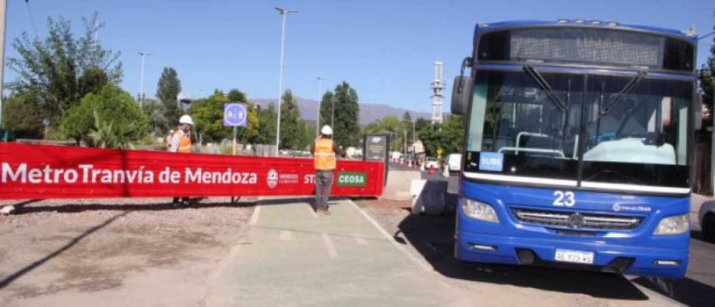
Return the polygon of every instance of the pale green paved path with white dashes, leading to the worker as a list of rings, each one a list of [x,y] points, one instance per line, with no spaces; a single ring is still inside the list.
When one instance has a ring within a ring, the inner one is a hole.
[[[260,202],[221,263],[207,306],[443,306],[454,296],[431,266],[348,200],[318,217],[312,198]],[[388,237],[386,237],[388,236]],[[423,260],[421,260],[423,261]]]

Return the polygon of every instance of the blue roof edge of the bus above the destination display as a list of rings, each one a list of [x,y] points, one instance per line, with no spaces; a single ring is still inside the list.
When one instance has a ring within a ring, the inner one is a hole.
[[[501,28],[530,28],[533,26],[586,26],[586,27],[597,27],[602,29],[621,29],[621,30],[635,30],[635,31],[646,31],[653,34],[665,34],[669,36],[679,37],[681,39],[687,39],[691,42],[697,43],[698,36],[692,32],[680,31],[674,29],[658,28],[654,26],[639,26],[636,24],[626,24],[617,21],[603,21],[596,19],[558,19],[558,20],[516,20],[516,21],[500,21],[493,23],[479,23],[475,26],[475,36],[479,34],[480,29],[483,31],[492,31]]]

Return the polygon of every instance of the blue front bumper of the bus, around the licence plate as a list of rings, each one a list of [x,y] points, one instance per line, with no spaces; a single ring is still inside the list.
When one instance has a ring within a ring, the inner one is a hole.
[[[555,266],[663,278],[683,278],[688,266],[688,249],[597,245],[464,230],[457,233],[455,257],[462,261]],[[593,252],[593,263],[556,261],[557,249]]]

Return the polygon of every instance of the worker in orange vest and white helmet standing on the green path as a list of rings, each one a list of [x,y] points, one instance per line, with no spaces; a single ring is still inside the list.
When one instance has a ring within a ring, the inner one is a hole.
[[[322,126],[320,137],[315,140],[312,148],[315,160],[315,211],[320,216],[330,215],[327,211],[327,198],[332,187],[332,171],[335,170],[335,154],[338,149],[332,141],[330,126]]]

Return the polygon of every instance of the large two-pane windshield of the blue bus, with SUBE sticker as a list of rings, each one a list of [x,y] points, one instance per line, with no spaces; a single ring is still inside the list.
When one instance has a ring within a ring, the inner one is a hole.
[[[691,84],[633,80],[478,71],[465,171],[687,187]]]

